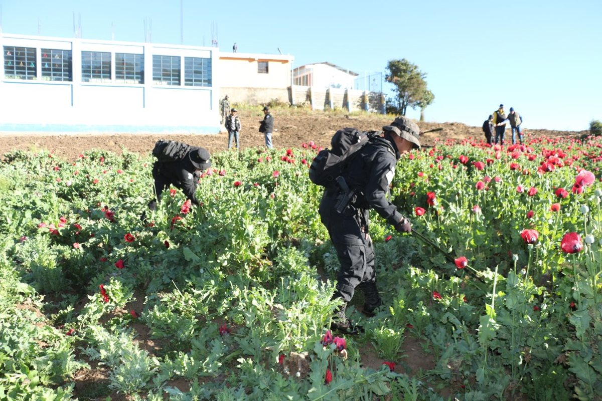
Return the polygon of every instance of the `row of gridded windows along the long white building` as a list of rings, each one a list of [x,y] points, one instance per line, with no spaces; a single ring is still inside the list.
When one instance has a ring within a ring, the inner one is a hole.
[[[40,49],[43,81],[73,81],[70,50]],[[116,53],[115,79],[111,77],[110,52],[81,52],[82,82],[144,84],[144,55]],[[158,85],[180,85],[181,58],[153,55],[152,80]],[[267,66],[265,67],[267,72]],[[7,79],[37,79],[35,47],[4,46],[4,76]],[[211,86],[211,58],[184,57],[184,85]]]

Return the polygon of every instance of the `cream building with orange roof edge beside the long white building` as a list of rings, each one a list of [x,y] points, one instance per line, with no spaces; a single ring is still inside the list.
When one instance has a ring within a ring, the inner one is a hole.
[[[231,103],[250,105],[290,102],[293,61],[291,55],[220,52],[220,99],[228,95]]]

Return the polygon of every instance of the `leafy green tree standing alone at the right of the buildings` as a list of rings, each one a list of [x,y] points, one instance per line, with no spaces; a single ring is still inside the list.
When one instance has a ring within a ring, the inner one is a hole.
[[[421,72],[418,66],[403,58],[402,60],[389,60],[386,66],[388,73],[385,75],[387,82],[394,85],[396,97],[393,100],[400,115],[406,115],[408,106],[412,109],[424,109],[433,103],[435,95],[427,89],[426,73]]]

